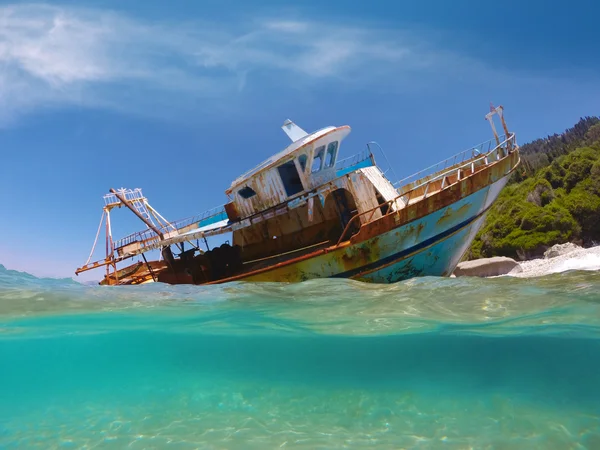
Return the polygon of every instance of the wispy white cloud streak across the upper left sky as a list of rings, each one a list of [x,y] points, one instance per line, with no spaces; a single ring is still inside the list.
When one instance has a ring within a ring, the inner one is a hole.
[[[312,20],[225,25],[0,7],[0,122],[43,107],[148,111],[152,99],[173,105],[221,97],[252,88],[255,72],[286,84],[366,82],[382,72],[427,70],[440,57],[409,35],[376,28]]]

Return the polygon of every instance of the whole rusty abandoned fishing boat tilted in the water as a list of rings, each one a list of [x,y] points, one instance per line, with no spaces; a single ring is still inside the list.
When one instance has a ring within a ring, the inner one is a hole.
[[[375,163],[375,143],[339,160],[350,127],[309,134],[288,120],[282,128],[291,144],[235,179],[225,191],[225,205],[199,216],[170,222],[140,189],[111,189],[101,220],[106,257],[90,263],[92,248],[76,274],[105,266],[101,283],[111,285],[321,277],[385,283],[449,275],[519,163],[502,107],[486,118],[492,140],[396,183]],[[129,208],[147,228],[114,241],[115,207]],[[231,234],[231,243],[211,247],[208,239],[223,234]],[[146,259],[151,251],[160,252],[157,260]],[[118,268],[135,257],[137,263]]]

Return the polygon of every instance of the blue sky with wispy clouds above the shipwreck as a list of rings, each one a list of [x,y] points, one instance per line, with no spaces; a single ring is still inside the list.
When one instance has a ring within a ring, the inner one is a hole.
[[[2,3],[0,264],[73,276],[110,187],[143,188],[169,219],[225,203],[288,145],[287,118],[350,125],[342,155],[376,140],[399,177],[487,140],[490,102],[521,143],[560,132],[600,114],[599,14],[592,0]],[[130,216],[114,214],[116,235],[143,228]]]

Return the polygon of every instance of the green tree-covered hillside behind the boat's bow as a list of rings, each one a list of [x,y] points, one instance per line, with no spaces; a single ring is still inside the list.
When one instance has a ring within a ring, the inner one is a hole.
[[[529,259],[554,244],[600,243],[600,119],[525,144],[521,155],[467,258]]]

